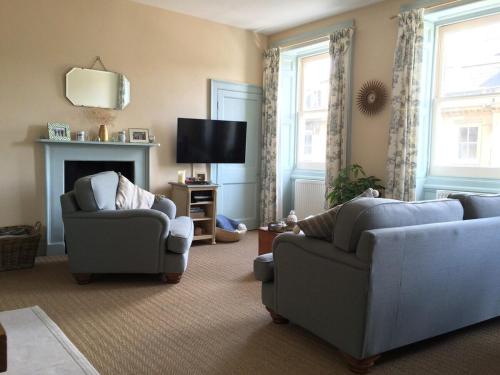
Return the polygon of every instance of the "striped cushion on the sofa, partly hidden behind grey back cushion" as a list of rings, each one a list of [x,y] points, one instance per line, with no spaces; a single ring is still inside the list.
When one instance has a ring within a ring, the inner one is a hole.
[[[362,197],[377,198],[378,196],[378,191],[370,188],[365,190],[352,200]],[[326,212],[308,217],[304,220],[300,220],[299,222],[297,222],[297,226],[308,237],[315,237],[321,240],[332,242],[333,231],[335,229],[335,223],[337,221],[337,213],[339,212],[341,207],[342,204],[339,204],[338,206],[330,208]]]

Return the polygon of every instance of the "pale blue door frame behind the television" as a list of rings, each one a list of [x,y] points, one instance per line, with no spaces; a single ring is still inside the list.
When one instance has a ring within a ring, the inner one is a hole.
[[[210,79],[210,119],[218,120],[218,92],[219,90],[224,91],[234,91],[234,92],[245,92],[247,94],[256,94],[261,95],[262,97],[262,87],[257,85],[252,85],[249,83],[240,83],[240,82],[230,82],[230,81],[221,81],[216,79]],[[263,103],[261,103],[263,105]],[[259,129],[259,145],[262,143],[262,124]],[[260,184],[260,176],[261,176],[261,162],[262,162],[262,154],[260,150],[257,150],[258,155],[258,172],[257,172],[257,183]],[[217,183],[217,173],[218,173],[218,164],[212,163],[210,164],[210,181]],[[259,187],[260,190],[260,187]],[[257,202],[257,219],[260,220],[260,201]]]

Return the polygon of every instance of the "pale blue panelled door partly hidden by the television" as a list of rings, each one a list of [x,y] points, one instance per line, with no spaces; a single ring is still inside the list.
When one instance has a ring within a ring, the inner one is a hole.
[[[255,229],[259,225],[262,89],[212,80],[211,92],[213,120],[247,122],[245,164],[211,165],[211,180],[220,186],[217,213]]]

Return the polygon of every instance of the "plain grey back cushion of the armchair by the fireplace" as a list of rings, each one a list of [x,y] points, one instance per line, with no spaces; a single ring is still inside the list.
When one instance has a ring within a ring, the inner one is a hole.
[[[115,210],[117,188],[118,174],[101,172],[76,180],[74,192],[82,211]]]

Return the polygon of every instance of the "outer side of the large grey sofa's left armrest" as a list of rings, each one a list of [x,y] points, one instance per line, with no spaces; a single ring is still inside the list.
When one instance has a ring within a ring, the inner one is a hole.
[[[273,247],[273,310],[361,358],[369,264],[303,235],[281,234]]]

